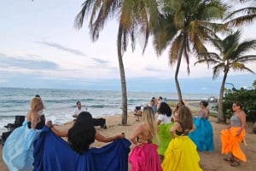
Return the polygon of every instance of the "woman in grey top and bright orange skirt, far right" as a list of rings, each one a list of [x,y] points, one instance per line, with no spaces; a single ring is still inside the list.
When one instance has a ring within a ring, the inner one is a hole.
[[[247,162],[247,157],[241,151],[241,142],[245,142],[246,135],[246,113],[241,109],[241,103],[234,102],[232,105],[234,111],[230,118],[230,126],[220,132],[221,153],[230,154],[230,157],[224,157],[225,161],[230,162],[231,166],[239,166],[240,161]]]

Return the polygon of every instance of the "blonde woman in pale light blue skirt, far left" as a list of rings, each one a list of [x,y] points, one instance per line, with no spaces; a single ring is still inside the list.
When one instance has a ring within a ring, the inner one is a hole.
[[[15,128],[3,145],[3,161],[11,171],[33,169],[33,142],[44,127],[39,124],[39,112],[44,109],[41,98],[32,98],[30,108],[25,122]]]

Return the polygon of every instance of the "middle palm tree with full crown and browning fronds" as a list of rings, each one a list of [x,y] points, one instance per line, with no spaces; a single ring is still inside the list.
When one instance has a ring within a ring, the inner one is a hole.
[[[182,58],[186,60],[189,74],[189,56],[207,59],[205,43],[217,38],[215,30],[218,20],[224,17],[227,6],[220,0],[162,0],[160,6],[160,28],[154,31],[154,48],[161,54],[169,46],[171,66],[177,62],[175,83],[179,100],[183,100],[177,80]]]

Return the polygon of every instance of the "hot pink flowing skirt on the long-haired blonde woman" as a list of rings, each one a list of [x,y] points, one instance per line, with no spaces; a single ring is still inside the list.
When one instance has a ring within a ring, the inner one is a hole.
[[[135,146],[129,162],[132,171],[162,171],[157,145],[153,143]]]

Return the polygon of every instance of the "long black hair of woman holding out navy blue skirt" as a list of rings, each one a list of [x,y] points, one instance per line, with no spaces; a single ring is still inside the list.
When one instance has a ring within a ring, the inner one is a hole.
[[[88,151],[90,144],[95,141],[96,129],[90,112],[82,111],[73,127],[68,130],[67,142],[74,151]]]

